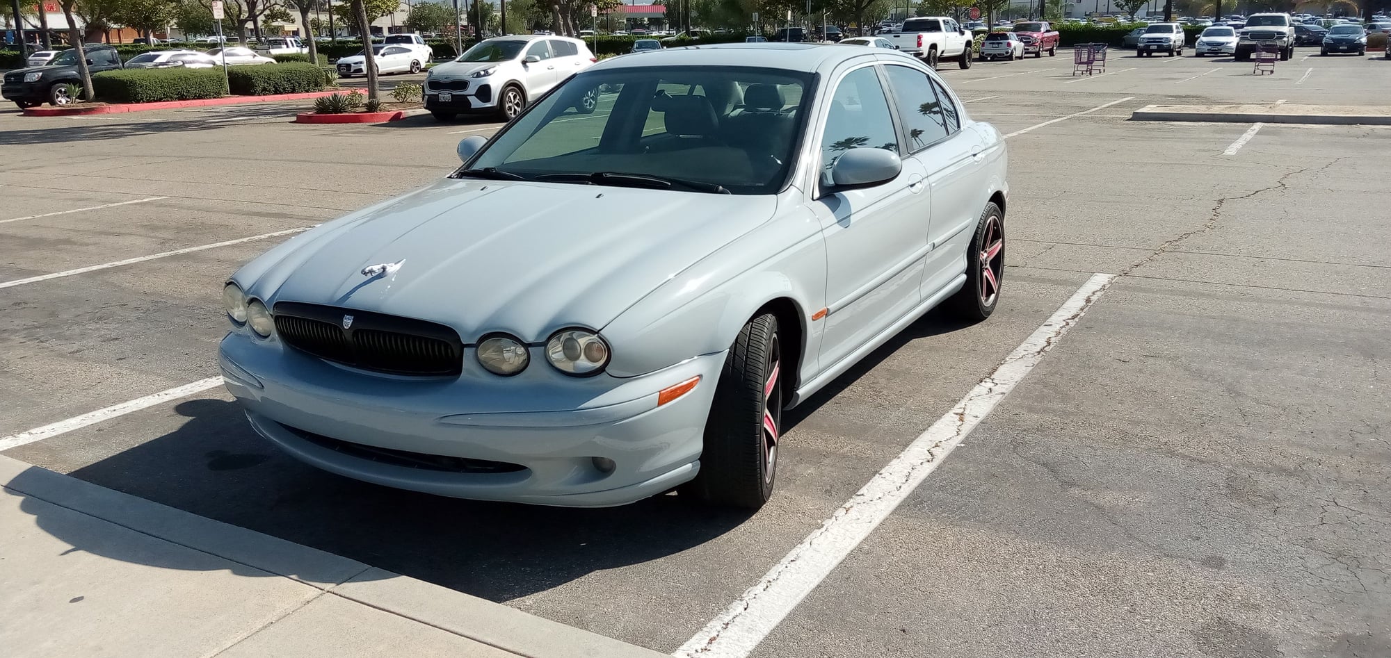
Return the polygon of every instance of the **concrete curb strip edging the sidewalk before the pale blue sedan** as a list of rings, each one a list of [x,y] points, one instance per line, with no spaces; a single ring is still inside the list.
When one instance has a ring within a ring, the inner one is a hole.
[[[184,548],[306,583],[325,594],[359,604],[353,609],[363,618],[389,612],[476,643],[534,658],[665,655],[460,591],[371,568],[355,559],[31,466],[4,455],[0,455],[0,484],[10,493],[86,515],[96,525],[117,525]],[[157,587],[159,583],[147,586]],[[228,597],[227,605],[235,607],[235,597]],[[139,619],[122,623],[131,633],[139,632]]]

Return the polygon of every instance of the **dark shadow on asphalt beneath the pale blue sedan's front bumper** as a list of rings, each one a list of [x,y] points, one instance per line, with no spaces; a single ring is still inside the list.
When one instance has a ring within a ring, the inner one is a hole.
[[[492,601],[672,555],[750,518],[676,494],[574,509],[388,489],[292,459],[236,403],[189,400],[174,411],[186,418],[178,429],[71,475]]]

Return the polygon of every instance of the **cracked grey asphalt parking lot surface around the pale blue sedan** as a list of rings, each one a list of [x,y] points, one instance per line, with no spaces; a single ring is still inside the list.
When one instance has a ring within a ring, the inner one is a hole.
[[[659,650],[702,641],[1095,273],[1077,325],[755,657],[1391,655],[1391,126],[1129,121],[1385,104],[1391,61],[1070,53],[944,79],[1008,135],[1004,298],[928,314],[789,412],[758,514],[472,503],[274,450],[221,387],[6,455]],[[0,111],[0,437],[214,378],[220,287],[451,171],[491,119]],[[1230,154],[1228,154],[1230,153]],[[789,576],[790,577],[790,576]]]

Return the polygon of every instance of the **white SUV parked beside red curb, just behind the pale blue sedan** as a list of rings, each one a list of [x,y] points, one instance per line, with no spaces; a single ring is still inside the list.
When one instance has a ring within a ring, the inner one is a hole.
[[[426,110],[437,119],[498,112],[510,121],[534,99],[595,61],[584,42],[565,36],[520,35],[479,42],[459,58],[426,75]],[[593,112],[597,94],[577,107]]]

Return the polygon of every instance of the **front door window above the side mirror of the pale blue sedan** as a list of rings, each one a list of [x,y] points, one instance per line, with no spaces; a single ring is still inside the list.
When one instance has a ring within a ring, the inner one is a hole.
[[[899,153],[889,100],[874,67],[851,71],[836,85],[836,93],[830,97],[826,129],[821,135],[823,182],[829,183],[836,158],[850,149],[887,149]]]

